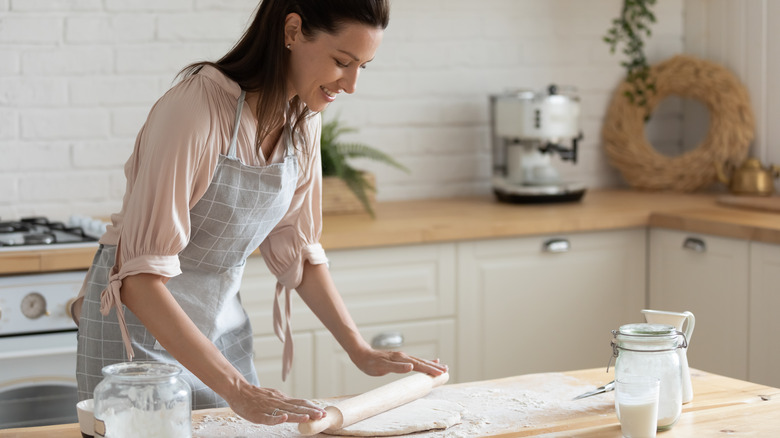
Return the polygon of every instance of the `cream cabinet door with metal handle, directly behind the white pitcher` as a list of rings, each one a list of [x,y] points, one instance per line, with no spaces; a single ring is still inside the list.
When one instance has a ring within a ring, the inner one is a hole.
[[[747,379],[749,247],[739,239],[650,231],[649,305],[693,312],[692,368]]]

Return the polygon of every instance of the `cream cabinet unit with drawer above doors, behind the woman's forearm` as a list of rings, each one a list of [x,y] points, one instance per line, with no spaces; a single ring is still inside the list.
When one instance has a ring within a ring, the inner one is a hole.
[[[456,369],[455,252],[454,243],[442,243],[328,251],[327,255],[336,287],[367,341],[380,333],[401,332],[403,351],[439,357]],[[398,378],[362,374],[293,292],[295,357],[289,381],[282,383],[282,346],[272,325],[275,285],[276,278],[262,257],[250,257],[241,299],[255,334],[255,365],[262,384],[308,398],[362,392],[377,382]]]

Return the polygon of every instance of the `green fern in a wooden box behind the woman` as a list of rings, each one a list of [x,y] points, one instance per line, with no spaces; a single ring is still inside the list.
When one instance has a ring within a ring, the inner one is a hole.
[[[368,158],[397,169],[409,169],[393,157],[362,143],[341,142],[343,134],[357,132],[338,117],[323,122],[320,138],[322,155],[322,211],[346,213],[365,210],[374,217],[376,182],[374,175],[354,168],[348,160]]]

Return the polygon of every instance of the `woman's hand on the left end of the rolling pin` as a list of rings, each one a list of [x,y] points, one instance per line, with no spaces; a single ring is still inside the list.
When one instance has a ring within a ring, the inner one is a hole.
[[[305,423],[325,416],[324,409],[308,400],[293,399],[275,389],[246,382],[226,401],[233,412],[253,423]]]

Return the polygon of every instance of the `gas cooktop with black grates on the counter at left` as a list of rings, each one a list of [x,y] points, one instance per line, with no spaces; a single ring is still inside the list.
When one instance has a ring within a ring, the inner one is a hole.
[[[87,225],[89,232],[81,224]],[[75,216],[69,224],[53,222],[45,217],[0,221],[0,252],[97,246],[100,235],[105,231],[105,225],[101,224]]]

